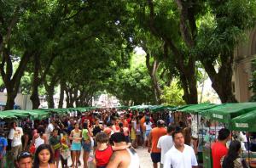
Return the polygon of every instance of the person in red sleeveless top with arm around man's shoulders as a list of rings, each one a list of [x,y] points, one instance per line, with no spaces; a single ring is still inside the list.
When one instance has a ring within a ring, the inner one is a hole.
[[[96,168],[107,167],[110,157],[113,154],[113,150],[123,150],[130,147],[130,145],[127,145],[126,147],[112,147],[108,144],[108,135],[104,132],[97,133],[96,143],[97,148],[94,160]]]

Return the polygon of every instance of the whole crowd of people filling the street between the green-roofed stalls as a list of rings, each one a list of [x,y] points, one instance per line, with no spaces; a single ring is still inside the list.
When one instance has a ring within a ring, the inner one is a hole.
[[[15,167],[20,168],[138,168],[136,148],[148,148],[154,168],[198,167],[197,143],[192,143],[189,125],[182,120],[174,122],[169,112],[98,109],[19,124],[11,123],[8,136],[0,130],[1,167],[10,150]],[[230,135],[228,129],[221,129],[218,141],[212,143],[213,168],[247,166],[239,157],[240,142],[232,141],[226,148]],[[81,151],[83,160],[79,160]],[[72,163],[67,161],[70,153]]]

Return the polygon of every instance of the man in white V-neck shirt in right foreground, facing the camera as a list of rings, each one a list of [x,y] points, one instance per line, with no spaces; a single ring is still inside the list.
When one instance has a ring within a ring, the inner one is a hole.
[[[164,168],[195,168],[197,160],[193,148],[184,144],[183,132],[172,133],[174,145],[166,153]]]

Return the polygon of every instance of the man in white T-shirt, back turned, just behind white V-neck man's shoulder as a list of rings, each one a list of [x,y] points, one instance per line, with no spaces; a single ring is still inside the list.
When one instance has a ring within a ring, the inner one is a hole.
[[[158,140],[157,148],[160,148],[161,150],[160,167],[163,167],[166,152],[173,146],[172,132],[174,131],[174,126],[167,126],[167,135],[160,137],[160,139]]]

